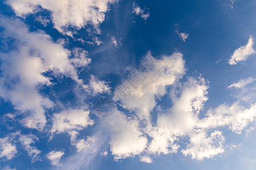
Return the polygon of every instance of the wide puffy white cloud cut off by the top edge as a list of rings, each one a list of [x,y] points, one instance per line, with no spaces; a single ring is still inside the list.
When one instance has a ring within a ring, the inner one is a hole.
[[[40,1],[40,0],[7,0],[16,15],[26,17],[35,14],[40,7],[51,11],[54,27],[63,33],[68,32],[68,27],[80,29],[85,25],[92,24],[97,33],[100,33],[99,25],[105,20],[105,13],[109,10],[111,3],[116,0],[64,0],[64,1]]]

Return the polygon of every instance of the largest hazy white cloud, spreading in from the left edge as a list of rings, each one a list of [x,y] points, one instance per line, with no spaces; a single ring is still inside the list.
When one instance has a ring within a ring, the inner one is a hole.
[[[44,112],[54,105],[37,90],[41,85],[51,85],[50,78],[43,73],[52,71],[54,76],[64,74],[75,80],[79,87],[86,88],[78,78],[75,67],[77,59],[81,61],[80,66],[85,66],[90,59],[80,55],[70,60],[71,52],[63,48],[63,41],[54,43],[44,32],[29,32],[18,19],[1,16],[0,20],[5,35],[2,38],[15,40],[15,48],[1,53],[0,96],[10,100],[18,111],[28,114],[21,121],[24,126],[42,130],[47,122]]]

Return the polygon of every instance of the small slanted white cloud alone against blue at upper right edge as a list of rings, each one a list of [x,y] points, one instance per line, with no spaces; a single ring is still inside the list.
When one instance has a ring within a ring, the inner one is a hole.
[[[254,39],[250,36],[246,45],[241,46],[236,49],[229,59],[230,65],[236,65],[240,61],[245,61],[251,54],[255,54],[255,50],[253,49]]]

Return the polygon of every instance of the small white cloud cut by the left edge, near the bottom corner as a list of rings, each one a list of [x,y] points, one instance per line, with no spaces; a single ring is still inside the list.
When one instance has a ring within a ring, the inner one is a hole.
[[[9,138],[0,138],[0,158],[10,160],[17,153],[16,146],[13,145]]]

